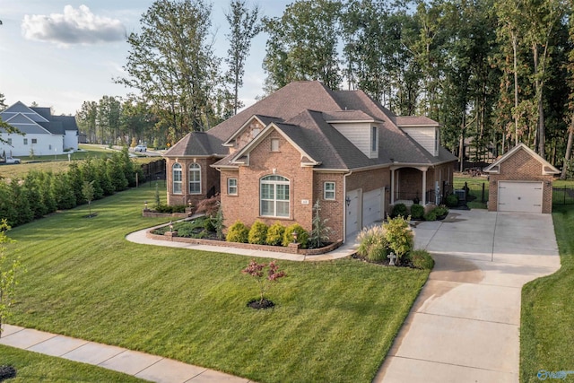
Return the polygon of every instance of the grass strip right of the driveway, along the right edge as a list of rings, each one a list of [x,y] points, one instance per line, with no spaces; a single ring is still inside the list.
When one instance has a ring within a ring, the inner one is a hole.
[[[554,206],[552,218],[561,269],[522,290],[520,381],[535,382],[538,370],[574,370],[574,206]],[[567,379],[572,379],[570,376]]]

